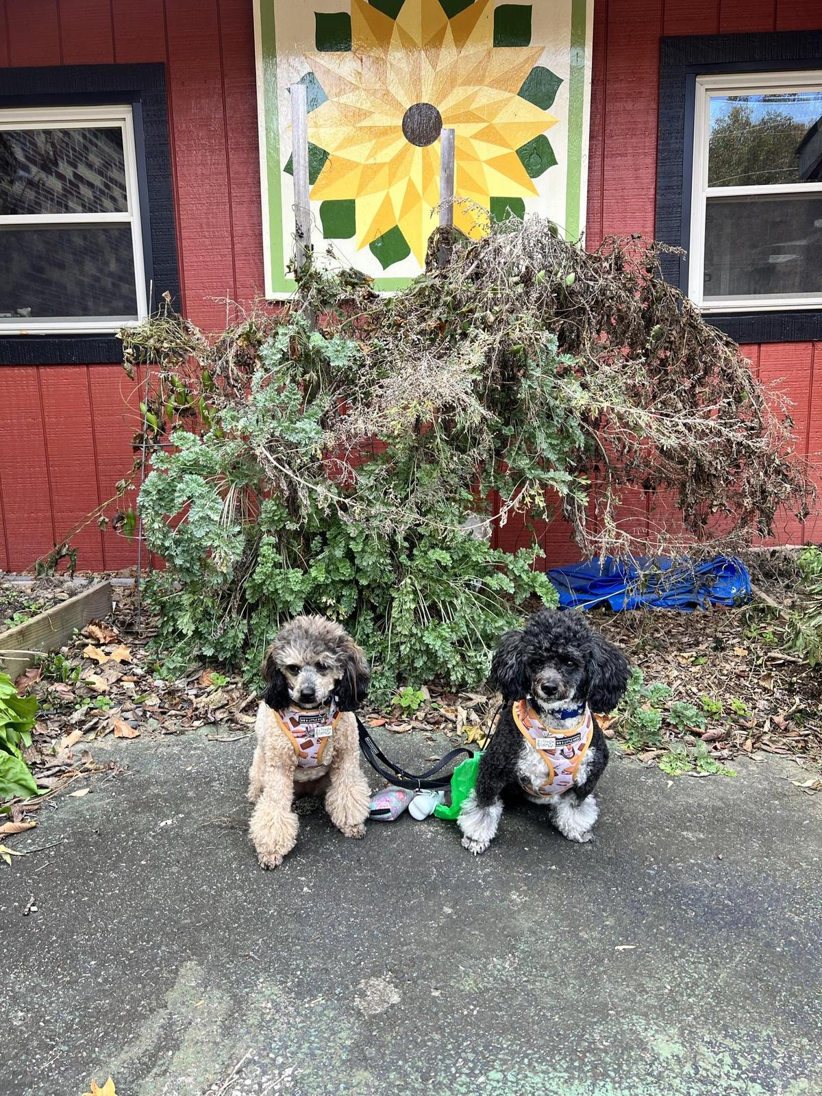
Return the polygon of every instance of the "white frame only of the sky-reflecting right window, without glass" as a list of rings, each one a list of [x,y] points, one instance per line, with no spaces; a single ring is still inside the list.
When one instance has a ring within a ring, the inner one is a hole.
[[[694,104],[694,165],[690,192],[690,262],[688,296],[707,313],[768,312],[813,308],[822,305],[822,294],[775,297],[721,297],[706,299],[705,207],[709,197],[734,197],[757,194],[822,193],[822,183],[786,183],[769,186],[708,186],[708,137],[712,95],[755,94],[779,91],[822,91],[822,71],[815,72],[739,72],[696,78]]]

